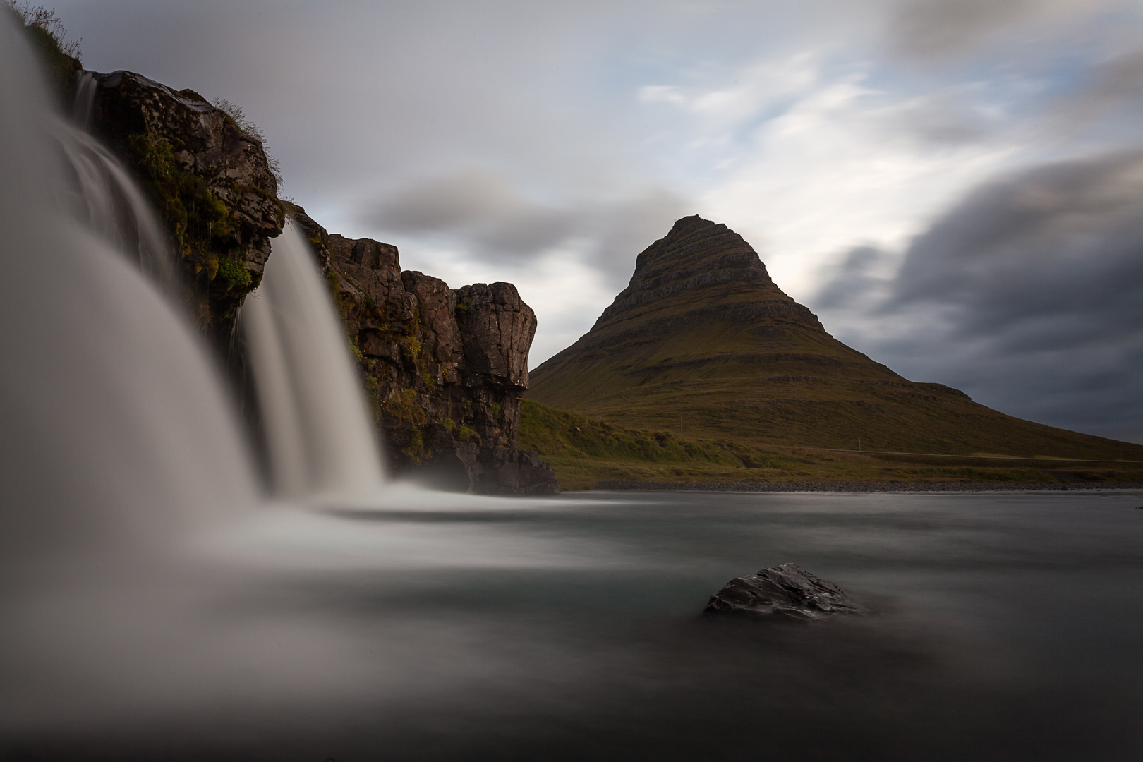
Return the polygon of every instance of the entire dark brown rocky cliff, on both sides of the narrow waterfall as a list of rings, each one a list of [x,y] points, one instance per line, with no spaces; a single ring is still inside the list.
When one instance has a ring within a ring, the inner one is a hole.
[[[551,467],[515,447],[536,331],[515,287],[453,290],[401,272],[395,247],[330,234],[280,201],[258,137],[199,94],[133,72],[91,74],[93,130],[154,202],[191,312],[221,353],[294,216],[334,292],[392,470],[482,494],[559,491]]]

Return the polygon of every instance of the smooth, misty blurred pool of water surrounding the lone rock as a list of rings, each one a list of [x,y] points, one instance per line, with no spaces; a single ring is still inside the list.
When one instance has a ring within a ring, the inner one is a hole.
[[[1143,752],[1143,492],[387,499],[265,511],[159,564],[166,579],[78,597],[38,587],[8,635],[56,642],[41,661],[26,643],[21,664],[5,660],[0,751]],[[879,613],[809,626],[696,617],[729,578],[782,562]]]

